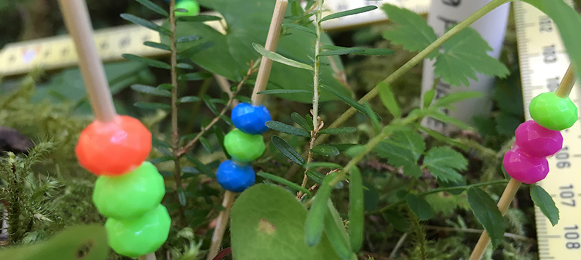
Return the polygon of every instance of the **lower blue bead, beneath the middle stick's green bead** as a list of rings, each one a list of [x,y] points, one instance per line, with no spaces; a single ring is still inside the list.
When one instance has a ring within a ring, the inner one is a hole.
[[[254,184],[254,169],[248,163],[223,161],[216,171],[218,183],[231,192],[243,192]]]

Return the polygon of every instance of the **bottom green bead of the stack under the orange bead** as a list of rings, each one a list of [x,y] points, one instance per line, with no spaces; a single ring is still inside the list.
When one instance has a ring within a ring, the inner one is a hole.
[[[157,204],[154,210],[136,219],[108,219],[105,222],[109,246],[126,257],[155,252],[167,239],[172,219],[167,209]]]

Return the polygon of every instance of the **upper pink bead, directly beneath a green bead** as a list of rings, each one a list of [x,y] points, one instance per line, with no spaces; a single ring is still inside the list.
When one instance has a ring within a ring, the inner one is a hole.
[[[548,157],[563,148],[561,132],[544,128],[533,120],[521,123],[514,134],[516,145],[533,157]]]

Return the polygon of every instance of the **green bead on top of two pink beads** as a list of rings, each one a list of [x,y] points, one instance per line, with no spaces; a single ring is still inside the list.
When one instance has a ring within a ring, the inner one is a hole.
[[[557,97],[555,92],[546,92],[534,97],[529,105],[531,117],[544,128],[560,131],[573,126],[577,121],[577,107],[569,97]]]

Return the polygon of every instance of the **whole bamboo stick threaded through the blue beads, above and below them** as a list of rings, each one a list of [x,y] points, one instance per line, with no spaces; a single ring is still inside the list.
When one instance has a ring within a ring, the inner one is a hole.
[[[281,37],[281,27],[283,26],[283,19],[285,18],[288,4],[288,0],[276,0],[272,20],[270,21],[270,28],[266,38],[266,50],[271,52],[276,51],[278,40]],[[260,105],[263,101],[262,95],[258,94],[258,92],[265,90],[268,78],[270,77],[271,68],[272,60],[262,57],[261,66],[258,68],[256,83],[254,84],[254,90],[252,90],[252,105],[254,106]],[[207,260],[214,259],[216,254],[218,254],[218,250],[220,250],[228,219],[230,219],[230,209],[234,203],[234,196],[234,192],[228,190],[224,192],[222,206],[225,210],[220,212],[220,214],[218,214],[218,219],[216,219],[216,228],[214,228],[214,234],[212,235],[212,244],[210,245],[210,252],[207,254]]]

